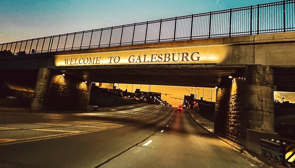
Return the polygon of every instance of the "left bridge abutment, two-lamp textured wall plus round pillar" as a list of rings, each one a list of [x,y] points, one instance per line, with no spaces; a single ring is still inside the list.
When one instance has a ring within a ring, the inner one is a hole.
[[[32,99],[33,111],[86,111],[91,83],[40,68]]]

